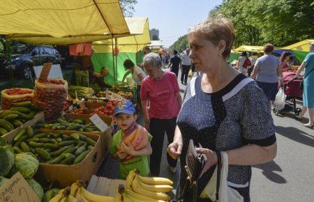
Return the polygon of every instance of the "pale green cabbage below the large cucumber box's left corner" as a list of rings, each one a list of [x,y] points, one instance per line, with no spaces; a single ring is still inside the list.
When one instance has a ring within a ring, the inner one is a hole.
[[[37,172],[39,162],[32,153],[15,155],[15,166],[25,179],[31,179]]]

